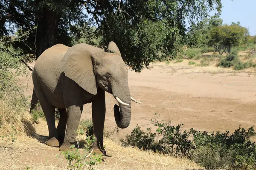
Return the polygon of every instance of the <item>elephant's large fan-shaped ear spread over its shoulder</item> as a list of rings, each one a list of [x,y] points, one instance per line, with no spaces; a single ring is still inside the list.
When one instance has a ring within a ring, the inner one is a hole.
[[[68,48],[61,60],[65,76],[75,81],[90,94],[97,94],[94,65],[104,50],[85,43]]]

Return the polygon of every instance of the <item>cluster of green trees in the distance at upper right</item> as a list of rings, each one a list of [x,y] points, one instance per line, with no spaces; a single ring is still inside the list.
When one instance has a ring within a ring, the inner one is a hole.
[[[203,48],[214,47],[222,55],[225,51],[230,53],[232,47],[251,42],[249,30],[240,26],[240,22],[223,24],[218,17],[210,17],[194,24],[187,33],[186,45]]]

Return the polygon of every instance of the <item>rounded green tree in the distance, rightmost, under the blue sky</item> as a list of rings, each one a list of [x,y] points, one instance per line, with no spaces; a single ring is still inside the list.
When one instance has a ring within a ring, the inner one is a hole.
[[[218,51],[220,55],[222,55],[225,50],[230,54],[232,47],[238,46],[244,42],[246,34],[246,28],[238,24],[218,26],[210,30],[209,43],[214,46],[215,50]]]

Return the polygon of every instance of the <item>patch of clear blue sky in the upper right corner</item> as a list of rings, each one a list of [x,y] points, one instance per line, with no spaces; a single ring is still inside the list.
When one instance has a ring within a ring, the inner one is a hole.
[[[240,25],[250,31],[250,35],[256,35],[256,0],[221,0],[221,19],[225,24],[240,22]],[[210,13],[214,14],[214,11]]]

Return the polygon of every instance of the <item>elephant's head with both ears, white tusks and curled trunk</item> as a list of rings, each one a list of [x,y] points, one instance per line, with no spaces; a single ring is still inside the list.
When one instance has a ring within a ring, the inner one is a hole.
[[[97,88],[113,94],[120,106],[120,111],[114,106],[116,125],[126,128],[131,121],[131,100],[140,102],[130,95],[128,68],[116,44],[110,42],[108,50],[114,53],[85,43],[70,47],[62,59],[64,74],[90,94],[97,94]]]

